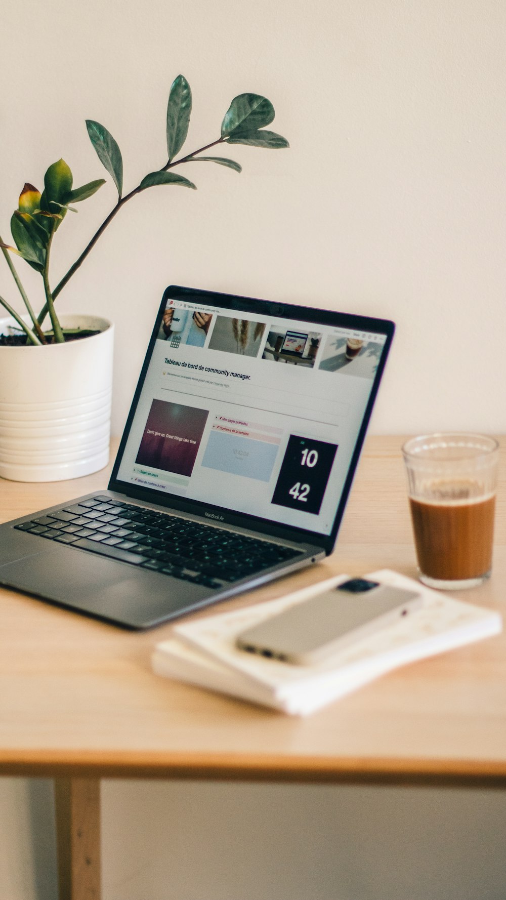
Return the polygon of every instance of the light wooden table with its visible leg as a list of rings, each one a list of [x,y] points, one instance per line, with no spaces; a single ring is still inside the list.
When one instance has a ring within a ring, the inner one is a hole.
[[[414,576],[401,445],[368,440],[328,560],[227,608],[338,572]],[[492,578],[465,599],[504,613],[501,447]],[[0,480],[0,518],[103,489],[107,477]],[[504,635],[404,667],[300,720],[155,676],[150,653],[169,625],[126,632],[10,590],[0,590],[0,609],[0,774],[56,779],[60,900],[100,896],[101,778],[506,787]]]

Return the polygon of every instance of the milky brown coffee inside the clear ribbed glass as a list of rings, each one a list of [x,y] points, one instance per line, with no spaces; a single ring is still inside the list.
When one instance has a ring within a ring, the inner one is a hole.
[[[494,495],[447,502],[410,497],[410,506],[422,574],[439,581],[464,581],[490,572]]]

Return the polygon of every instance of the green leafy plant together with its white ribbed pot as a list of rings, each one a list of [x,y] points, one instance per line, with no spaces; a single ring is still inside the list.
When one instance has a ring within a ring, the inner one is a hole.
[[[112,391],[113,326],[90,316],[61,318],[55,301],[77,272],[96,241],[122,207],[141,191],[156,185],[195,184],[176,166],[213,162],[241,171],[239,163],[221,156],[202,155],[221,144],[284,148],[288,142],[266,130],[275,112],[258,94],[239,94],[221,122],[221,135],[204,147],[178,156],[188,131],[192,93],[184,76],[170,88],[167,104],[167,163],[123,193],[122,154],[110,132],[97,121],[86,129],[97,156],[113,178],[118,200],[76,262],[59,284],[50,281],[50,258],[59,227],[76,212],[75,204],[92,197],[104,184],[100,178],[73,186],[72,172],[63,159],[44,175],[39,191],[25,184],[11,219],[12,246],[0,238],[0,248],[24,304],[23,314],[0,289],[0,476],[14,481],[40,482],[75,478],[103,468],[109,455]],[[23,288],[13,254],[41,275],[40,312]]]

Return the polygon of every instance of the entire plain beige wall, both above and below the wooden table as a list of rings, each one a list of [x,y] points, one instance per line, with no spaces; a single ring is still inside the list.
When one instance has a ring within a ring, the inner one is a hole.
[[[187,166],[197,192],[135,198],[61,294],[116,322],[116,433],[169,283],[392,318],[376,432],[506,431],[505,40],[501,0],[4,0],[4,238],[51,162],[104,174],[86,118],[120,144],[127,189],[164,165],[179,72],[188,149],[244,91],[292,145],[230,147],[241,175]],[[55,282],[113,202],[108,184],[68,215]],[[52,900],[48,783],[2,782],[0,811],[0,896]],[[108,785],[104,900],[499,900],[505,819],[479,793]]]

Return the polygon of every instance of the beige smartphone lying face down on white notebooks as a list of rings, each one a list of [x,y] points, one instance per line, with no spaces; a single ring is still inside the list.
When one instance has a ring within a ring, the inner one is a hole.
[[[311,665],[421,605],[422,597],[415,590],[353,578],[247,628],[236,644],[248,653]]]

